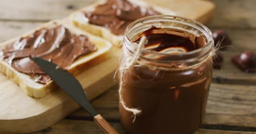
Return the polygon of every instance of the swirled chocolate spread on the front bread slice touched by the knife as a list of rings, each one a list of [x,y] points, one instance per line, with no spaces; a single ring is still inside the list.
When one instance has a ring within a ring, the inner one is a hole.
[[[87,36],[72,34],[64,26],[56,26],[21,37],[1,49],[1,57],[15,70],[34,77],[35,82],[45,84],[51,78],[30,57],[41,57],[68,70],[77,57],[96,50]]]

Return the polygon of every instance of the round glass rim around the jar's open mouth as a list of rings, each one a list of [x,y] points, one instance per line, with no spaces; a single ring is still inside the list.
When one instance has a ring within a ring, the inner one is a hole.
[[[190,52],[179,53],[179,54],[177,54],[177,53],[175,53],[175,54],[166,54],[166,53],[161,53],[161,52],[150,51],[150,50],[144,49],[144,48],[141,50],[141,52],[143,52],[143,53],[157,54],[157,55],[161,55],[161,56],[181,56],[181,55],[182,56],[189,56],[189,55],[199,53],[199,52],[202,52],[202,51],[208,52],[213,47],[213,36],[212,36],[212,33],[211,33],[209,28],[207,28],[205,25],[203,25],[202,23],[200,23],[198,21],[192,20],[190,18],[179,17],[179,16],[176,16],[176,15],[152,15],[152,16],[147,16],[147,17],[144,17],[144,18],[140,18],[136,21],[133,21],[125,29],[124,42],[129,41],[136,47],[137,45],[128,36],[128,34],[130,32],[130,29],[133,28],[133,26],[135,26],[137,23],[143,23],[143,22],[147,22],[147,21],[150,21],[150,20],[152,21],[152,19],[153,20],[168,19],[168,20],[172,20],[172,21],[177,21],[177,22],[182,23],[184,25],[190,25],[190,26],[196,27],[197,30],[200,30],[202,33],[206,33],[208,35],[207,43],[205,44],[205,46],[203,46],[199,49],[196,49],[196,50],[193,50],[193,51],[190,51]]]

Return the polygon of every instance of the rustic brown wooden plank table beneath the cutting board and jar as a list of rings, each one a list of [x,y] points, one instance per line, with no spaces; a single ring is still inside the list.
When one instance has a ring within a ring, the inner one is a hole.
[[[95,0],[1,0],[0,41],[18,36],[51,19],[63,18]],[[195,134],[256,134],[256,74],[238,70],[230,61],[234,54],[256,52],[256,0],[213,0],[216,13],[208,23],[214,31],[224,29],[233,41],[224,52],[222,70],[214,70],[203,124]],[[92,101],[93,107],[117,131],[117,86]],[[35,134],[103,134],[85,110],[80,109],[57,124]]]

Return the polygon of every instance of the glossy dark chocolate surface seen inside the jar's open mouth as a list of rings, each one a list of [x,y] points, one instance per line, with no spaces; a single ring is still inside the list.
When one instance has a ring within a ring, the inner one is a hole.
[[[141,36],[147,37],[145,49],[161,52],[165,54],[184,53],[199,49],[205,46],[204,36],[198,36],[179,30],[170,30],[168,28],[152,27],[139,34],[134,42],[139,43]],[[170,51],[179,49],[179,51]]]

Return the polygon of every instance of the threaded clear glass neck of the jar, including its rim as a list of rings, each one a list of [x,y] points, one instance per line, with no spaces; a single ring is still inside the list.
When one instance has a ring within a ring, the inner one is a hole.
[[[142,49],[139,61],[143,61],[145,63],[150,62],[151,64],[155,63],[161,66],[170,66],[174,64],[176,65],[176,67],[185,64],[187,67],[189,67],[195,64],[200,64],[205,59],[213,55],[212,33],[206,26],[188,18],[181,18],[169,15],[156,15],[134,21],[126,28],[123,40],[124,56],[133,56],[134,52],[138,47],[138,45],[135,44],[133,40],[136,39],[136,37],[140,33],[148,30],[152,26],[186,31],[187,33],[192,33],[195,36],[203,35],[206,41],[206,45],[201,47],[200,49],[179,54],[165,54]]]

